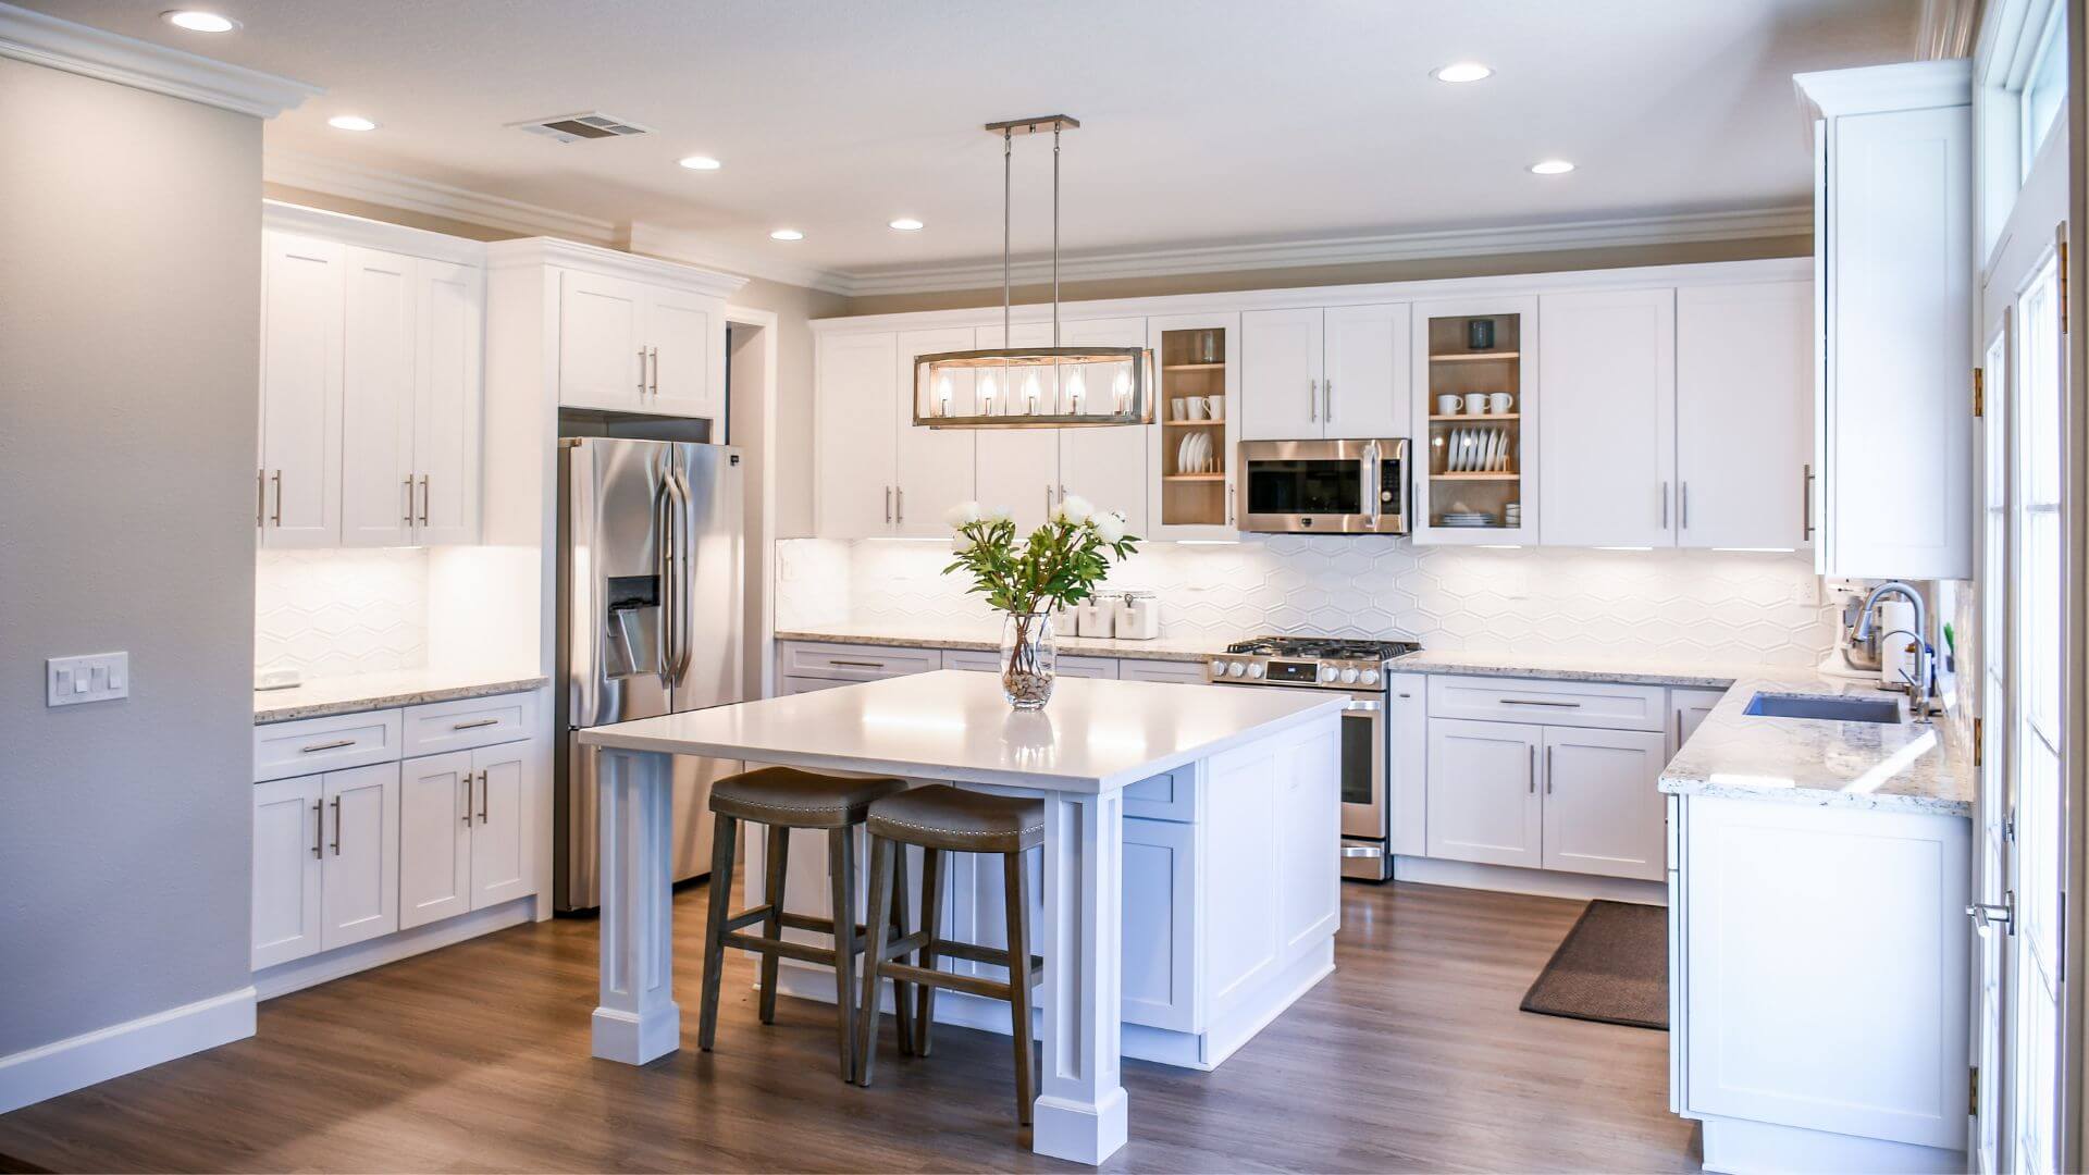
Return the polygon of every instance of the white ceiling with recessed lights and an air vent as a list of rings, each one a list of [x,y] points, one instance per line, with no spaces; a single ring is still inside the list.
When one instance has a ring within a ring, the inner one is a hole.
[[[1792,209],[1790,75],[1914,56],[1918,0],[27,0],[326,94],[272,159],[349,165],[794,272],[1001,255],[1001,140],[1070,113],[1074,255]],[[1466,86],[1429,77],[1481,61]],[[506,123],[604,111],[654,134]],[[338,132],[359,113],[380,130]],[[712,155],[719,171],[677,167]],[[1577,163],[1531,176],[1538,159]],[[1015,251],[1051,243],[1051,142],[1015,142]],[[921,232],[886,222],[913,215]],[[773,228],[804,240],[769,240]]]

